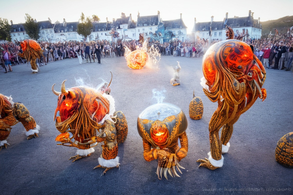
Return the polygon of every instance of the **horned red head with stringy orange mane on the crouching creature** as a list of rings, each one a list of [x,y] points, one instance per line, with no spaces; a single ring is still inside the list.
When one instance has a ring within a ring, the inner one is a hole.
[[[65,80],[66,81],[66,80]],[[57,108],[54,114],[55,125],[59,132],[75,130],[75,140],[82,142],[94,135],[94,129],[99,128],[106,114],[109,114],[109,101],[93,88],[72,87],[65,89],[62,82],[61,92],[52,92],[58,96]]]

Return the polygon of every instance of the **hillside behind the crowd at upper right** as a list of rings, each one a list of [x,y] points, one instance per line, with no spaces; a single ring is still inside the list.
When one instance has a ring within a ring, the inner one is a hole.
[[[272,28],[272,34],[275,34],[275,29],[278,29],[279,33],[287,33],[288,28],[293,26],[293,15],[285,16],[277,20],[268,20],[265,22],[260,22],[263,30],[262,34],[269,34]]]

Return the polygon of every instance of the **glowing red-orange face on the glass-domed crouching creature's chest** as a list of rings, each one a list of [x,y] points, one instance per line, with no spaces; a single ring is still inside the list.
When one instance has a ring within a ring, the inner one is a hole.
[[[156,120],[151,124],[151,139],[158,145],[164,145],[169,138],[169,130],[165,123]]]

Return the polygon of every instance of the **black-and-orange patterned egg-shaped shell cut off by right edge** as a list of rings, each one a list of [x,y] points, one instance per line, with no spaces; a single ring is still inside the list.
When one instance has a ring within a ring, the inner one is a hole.
[[[287,133],[278,141],[275,156],[278,163],[293,168],[293,132]]]

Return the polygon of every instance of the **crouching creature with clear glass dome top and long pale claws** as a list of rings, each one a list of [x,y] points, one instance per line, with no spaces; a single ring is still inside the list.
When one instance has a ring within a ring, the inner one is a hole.
[[[143,141],[144,159],[159,159],[156,172],[159,179],[162,178],[162,173],[168,179],[167,171],[172,177],[180,177],[177,171],[182,173],[180,168],[183,167],[178,161],[185,158],[188,152],[186,128],[185,114],[170,103],[153,104],[139,114],[137,130]]]

